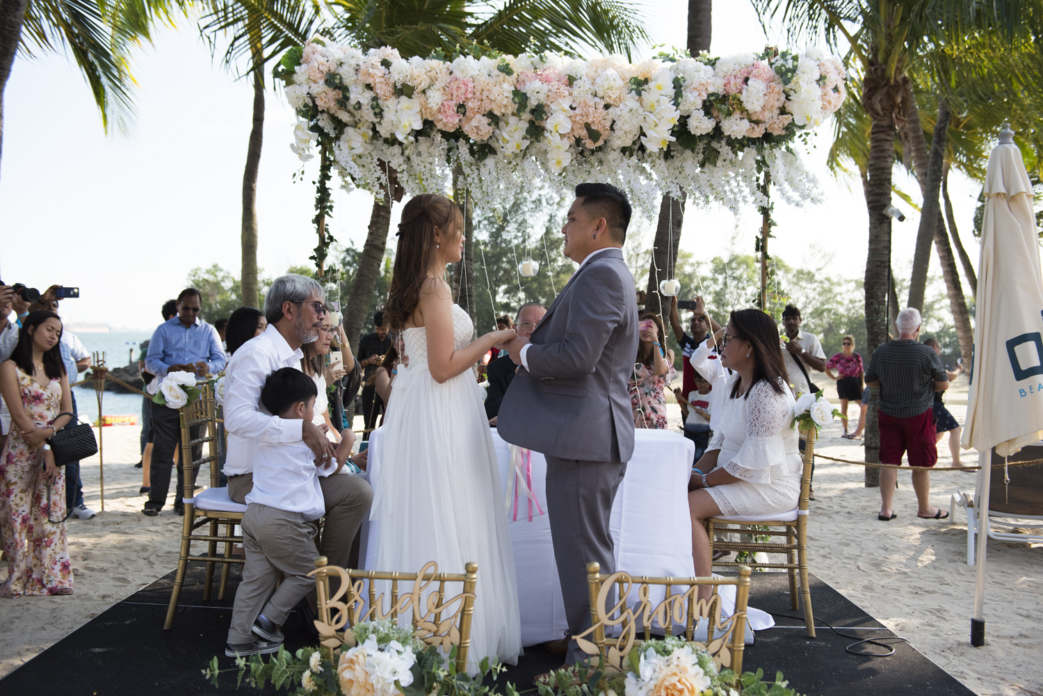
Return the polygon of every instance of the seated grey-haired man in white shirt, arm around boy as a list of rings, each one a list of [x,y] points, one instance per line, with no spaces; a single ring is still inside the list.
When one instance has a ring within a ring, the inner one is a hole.
[[[318,337],[328,313],[324,301],[325,292],[314,279],[295,273],[276,278],[265,296],[268,328],[243,343],[228,361],[224,377],[224,426],[228,431],[224,473],[228,497],[237,503],[243,503],[253,488],[258,442],[302,440],[315,454],[316,466],[333,461],[333,442],[310,421],[281,418],[261,404],[261,389],[269,375],[283,367],[300,369],[300,346]],[[319,483],[325,503],[319,555],[326,556],[332,566],[351,568],[351,545],[369,513],[372,488],[364,479],[347,475],[320,477]],[[307,617],[305,623],[312,626]]]

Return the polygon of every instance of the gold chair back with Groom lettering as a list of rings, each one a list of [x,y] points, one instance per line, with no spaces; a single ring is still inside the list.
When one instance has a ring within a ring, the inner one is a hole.
[[[730,668],[741,674],[743,671],[743,649],[746,639],[746,605],[750,596],[750,569],[739,567],[736,578],[632,578],[628,573],[618,572],[602,576],[599,563],[587,563],[587,586],[590,594],[590,620],[592,625],[575,635],[583,652],[591,656],[601,655],[605,667],[617,672],[627,672],[630,667],[627,657],[633,647],[652,639],[653,626],[664,635],[674,633],[675,627],[684,627],[684,639],[693,647],[706,650],[713,663]],[[636,602],[630,599],[631,590],[636,584]],[[699,599],[700,586],[710,585],[713,593],[709,599]],[[735,610],[726,619],[721,617],[721,585],[735,585]],[[655,603],[652,587],[664,587],[664,598]],[[680,594],[674,587],[686,586]],[[613,590],[618,590],[615,603],[608,607]],[[630,606],[633,604],[633,606]],[[701,619],[706,619],[706,641],[696,641],[696,629]],[[637,639],[638,626],[644,627],[644,639]],[[606,632],[616,633],[606,638]]]

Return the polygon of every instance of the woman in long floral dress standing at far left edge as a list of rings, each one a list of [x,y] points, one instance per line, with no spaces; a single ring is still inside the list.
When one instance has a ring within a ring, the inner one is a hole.
[[[46,441],[72,412],[60,337],[57,314],[32,312],[22,325],[10,360],[0,364],[0,394],[11,422],[0,452],[0,532],[7,556],[7,579],[0,584],[4,597],[72,594],[65,474],[54,465]],[[18,408],[19,402],[23,408]]]

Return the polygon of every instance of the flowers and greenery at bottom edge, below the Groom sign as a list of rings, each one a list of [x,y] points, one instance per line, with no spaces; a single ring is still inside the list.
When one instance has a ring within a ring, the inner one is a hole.
[[[759,669],[742,675],[719,672],[708,652],[679,637],[634,646],[627,662],[630,670],[623,675],[606,677],[595,670],[578,679],[571,668],[554,672],[552,683],[536,686],[540,696],[797,696],[781,672],[773,681],[765,681]]]

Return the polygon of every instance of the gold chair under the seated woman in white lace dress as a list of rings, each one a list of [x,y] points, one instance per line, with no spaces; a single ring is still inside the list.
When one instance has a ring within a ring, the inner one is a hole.
[[[804,623],[807,625],[807,637],[815,638],[815,617],[811,613],[811,589],[807,581],[807,501],[811,487],[811,464],[815,462],[815,440],[817,432],[814,428],[800,431],[801,439],[805,441],[804,467],[800,477],[800,499],[797,507],[789,512],[772,515],[743,517],[720,515],[706,520],[706,533],[710,538],[710,553],[715,551],[747,551],[751,555],[757,552],[781,553],[785,562],[757,562],[746,558],[742,563],[734,560],[714,560],[713,565],[723,568],[734,568],[739,565],[753,569],[785,570],[790,574],[790,603],[796,610],[800,608],[797,593],[797,576],[800,576],[800,597],[804,604]],[[769,529],[759,529],[768,527]],[[772,529],[775,528],[775,529]],[[714,538],[714,533],[721,532],[729,541]],[[737,541],[734,539],[737,535]],[[755,536],[782,537],[779,541],[760,542]],[[745,541],[744,541],[745,539]],[[727,556],[726,556],[727,557]]]

